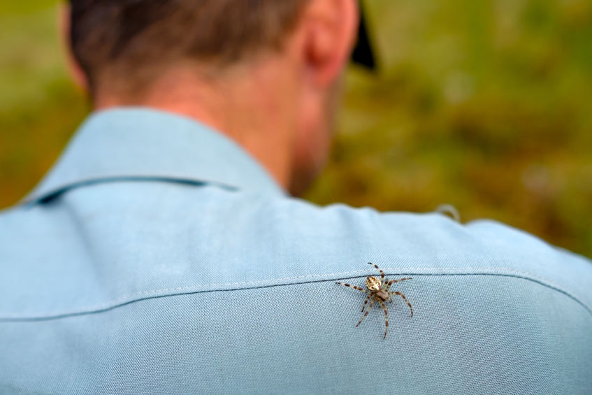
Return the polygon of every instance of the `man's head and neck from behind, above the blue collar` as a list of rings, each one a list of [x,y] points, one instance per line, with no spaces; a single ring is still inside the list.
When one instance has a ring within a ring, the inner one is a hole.
[[[356,33],[354,0],[70,3],[75,69],[96,108],[196,117],[294,193],[317,173]]]

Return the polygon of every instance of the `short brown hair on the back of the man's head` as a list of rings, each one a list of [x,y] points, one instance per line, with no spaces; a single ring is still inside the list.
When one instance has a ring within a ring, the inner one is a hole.
[[[219,69],[277,50],[308,0],[71,0],[71,47],[92,91],[145,87],[167,65]]]

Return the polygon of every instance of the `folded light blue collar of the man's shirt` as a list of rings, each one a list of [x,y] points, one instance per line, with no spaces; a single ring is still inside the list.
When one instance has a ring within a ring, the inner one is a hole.
[[[284,194],[253,157],[219,132],[171,113],[118,108],[90,115],[24,202],[118,179],[207,182]]]

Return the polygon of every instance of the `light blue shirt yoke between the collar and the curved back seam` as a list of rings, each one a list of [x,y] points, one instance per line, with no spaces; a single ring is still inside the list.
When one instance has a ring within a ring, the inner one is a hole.
[[[352,278],[368,275],[370,261],[389,275],[521,278],[592,306],[589,261],[497,222],[319,207],[211,185],[87,185],[4,212],[0,234],[2,288],[23,303],[4,307],[17,315]]]

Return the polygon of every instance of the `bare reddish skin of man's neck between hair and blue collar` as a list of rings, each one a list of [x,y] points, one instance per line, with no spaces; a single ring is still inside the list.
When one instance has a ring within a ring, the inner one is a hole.
[[[97,110],[146,106],[184,115],[232,138],[250,153],[284,189],[291,182],[294,117],[278,95],[280,84],[266,70],[250,78],[204,80],[175,71],[161,78],[141,100],[98,95]],[[281,89],[280,89],[281,92]]]

